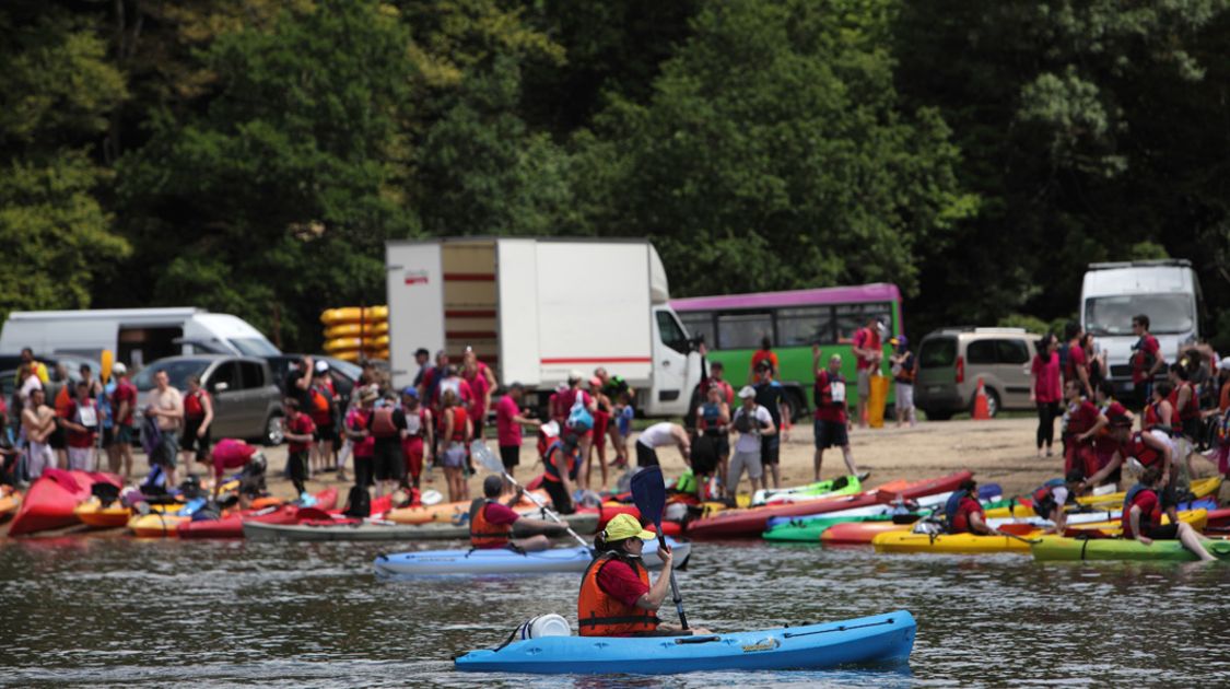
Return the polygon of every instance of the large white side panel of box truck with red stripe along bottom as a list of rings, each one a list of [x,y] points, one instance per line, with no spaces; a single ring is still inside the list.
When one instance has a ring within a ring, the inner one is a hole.
[[[540,380],[605,367],[633,386],[651,381],[648,245],[538,244]],[[603,279],[601,276],[617,276]],[[506,306],[507,308],[507,306]]]

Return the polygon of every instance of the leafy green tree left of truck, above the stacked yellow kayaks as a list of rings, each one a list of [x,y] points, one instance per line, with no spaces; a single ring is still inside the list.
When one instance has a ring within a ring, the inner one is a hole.
[[[320,309],[383,293],[384,241],[417,226],[410,47],[396,10],[343,0],[213,41],[204,113],[153,113],[121,165],[149,300],[277,321],[285,346],[316,348]]]

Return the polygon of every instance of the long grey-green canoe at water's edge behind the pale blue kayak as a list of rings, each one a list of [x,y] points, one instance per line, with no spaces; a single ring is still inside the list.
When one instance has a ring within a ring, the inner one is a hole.
[[[594,533],[598,513],[566,514],[561,518],[578,533]],[[469,539],[469,524],[389,524],[381,522],[269,524],[244,520],[244,536],[252,540],[450,540]],[[513,535],[530,535],[513,525]]]

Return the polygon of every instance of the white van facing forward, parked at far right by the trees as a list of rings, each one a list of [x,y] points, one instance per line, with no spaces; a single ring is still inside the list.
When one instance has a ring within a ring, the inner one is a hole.
[[[1149,316],[1166,362],[1200,336],[1200,283],[1187,260],[1092,263],[1081,287],[1081,325],[1106,352],[1116,392],[1130,399],[1132,317]]]

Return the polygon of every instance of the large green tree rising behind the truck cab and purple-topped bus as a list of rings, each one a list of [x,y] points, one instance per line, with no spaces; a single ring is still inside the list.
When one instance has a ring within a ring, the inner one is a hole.
[[[706,5],[647,105],[582,135],[581,231],[648,235],[679,293],[892,281],[975,208],[931,110],[905,112],[889,1]]]

